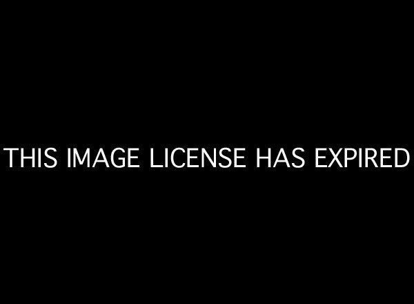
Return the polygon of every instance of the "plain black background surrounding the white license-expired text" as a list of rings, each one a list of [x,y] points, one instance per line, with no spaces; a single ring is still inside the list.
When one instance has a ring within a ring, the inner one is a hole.
[[[313,149],[412,153],[408,19],[171,9],[20,8],[2,38],[1,147],[246,146],[249,168],[3,166],[8,285],[116,298],[404,289],[412,164],[317,170]],[[256,147],[295,146],[306,168],[254,169]]]

